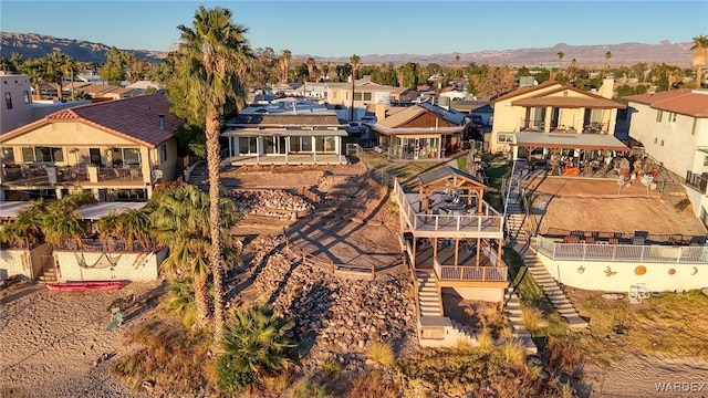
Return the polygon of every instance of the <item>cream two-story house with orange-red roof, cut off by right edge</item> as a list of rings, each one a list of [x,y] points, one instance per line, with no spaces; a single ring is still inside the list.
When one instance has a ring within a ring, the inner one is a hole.
[[[626,97],[629,136],[665,168],[686,176],[696,216],[708,221],[708,90],[676,90]]]

